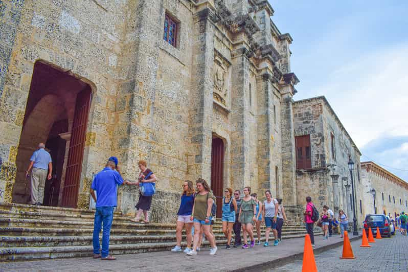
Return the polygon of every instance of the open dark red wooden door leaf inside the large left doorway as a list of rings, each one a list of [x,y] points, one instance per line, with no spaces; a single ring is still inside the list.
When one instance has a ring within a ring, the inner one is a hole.
[[[90,95],[90,88],[85,88],[78,93],[75,103],[74,121],[71,129],[71,141],[62,193],[63,207],[77,207]]]

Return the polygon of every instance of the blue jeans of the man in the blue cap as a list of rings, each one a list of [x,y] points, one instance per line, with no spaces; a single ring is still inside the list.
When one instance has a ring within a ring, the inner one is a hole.
[[[101,245],[99,243],[99,233],[102,229],[103,223],[103,232],[102,232],[102,258],[105,258],[109,255],[109,235],[110,227],[112,221],[114,220],[114,207],[104,206],[97,207],[95,212],[95,221],[94,221],[94,254],[99,254]]]

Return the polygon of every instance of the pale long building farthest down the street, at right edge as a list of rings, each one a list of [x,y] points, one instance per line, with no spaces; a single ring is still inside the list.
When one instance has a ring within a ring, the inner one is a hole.
[[[362,214],[382,213],[393,218],[408,212],[408,183],[373,162],[361,163]],[[375,191],[375,194],[374,194]]]

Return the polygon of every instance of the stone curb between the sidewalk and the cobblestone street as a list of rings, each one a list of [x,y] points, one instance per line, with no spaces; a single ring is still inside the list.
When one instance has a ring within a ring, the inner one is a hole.
[[[362,236],[359,235],[359,236],[350,238],[350,242],[361,239],[361,237]],[[338,242],[333,243],[333,244],[324,245],[324,246],[315,248],[313,250],[313,254],[319,254],[319,253],[322,253],[322,252],[327,251],[327,250],[331,250],[331,249],[336,248],[336,247],[341,246],[341,245],[343,245],[343,241],[338,241]],[[271,269],[271,268],[275,268],[277,266],[281,266],[281,265],[291,263],[293,261],[302,260],[302,258],[303,258],[303,251],[300,252],[300,253],[296,253],[296,254],[292,254],[292,255],[280,258],[280,259],[267,261],[267,262],[260,263],[260,264],[245,266],[245,267],[230,270],[230,271],[234,271],[234,272],[244,272],[244,271],[250,271],[250,270],[251,270],[251,272],[265,271],[265,269]]]

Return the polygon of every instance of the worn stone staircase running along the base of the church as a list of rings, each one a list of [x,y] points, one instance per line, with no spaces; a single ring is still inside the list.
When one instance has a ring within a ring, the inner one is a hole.
[[[114,215],[109,246],[113,255],[168,251],[175,245],[175,224],[137,224],[129,219],[118,212]],[[93,226],[92,210],[0,204],[0,261],[92,256]],[[261,231],[264,240],[264,226]],[[220,220],[213,232],[217,245],[226,243]],[[282,238],[305,233],[304,227],[288,222]]]

